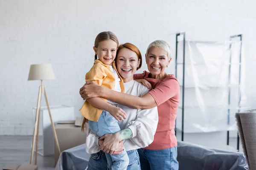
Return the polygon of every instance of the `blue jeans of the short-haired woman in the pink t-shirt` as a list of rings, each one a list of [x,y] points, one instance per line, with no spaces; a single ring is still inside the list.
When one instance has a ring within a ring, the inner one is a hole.
[[[138,149],[142,170],[178,170],[177,147],[162,150]]]

